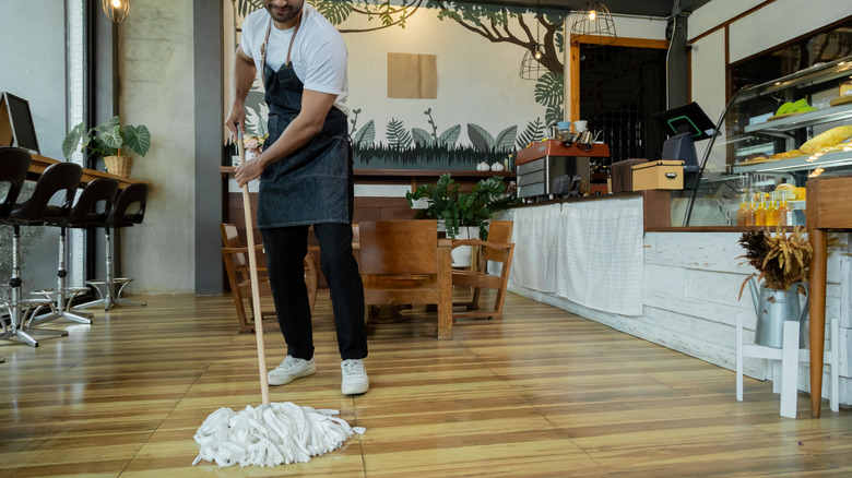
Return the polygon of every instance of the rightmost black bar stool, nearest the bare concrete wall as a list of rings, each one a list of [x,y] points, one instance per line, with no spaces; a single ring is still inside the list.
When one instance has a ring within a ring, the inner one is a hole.
[[[75,310],[103,304],[104,310],[108,311],[116,304],[145,304],[145,302],[142,301],[121,298],[121,291],[125,290],[125,287],[133,279],[129,277],[115,277],[113,267],[113,231],[114,229],[142,224],[142,219],[145,216],[146,202],[147,184],[143,182],[129,184],[118,193],[118,199],[113,205],[113,211],[109,212],[109,215],[104,223],[97,225],[97,227],[103,227],[106,230],[106,278],[86,282],[86,284],[94,286],[95,289],[97,289],[100,298],[76,306],[74,308]],[[130,206],[133,204],[139,205],[135,212],[130,210]],[[116,287],[118,287],[118,290],[116,290]]]

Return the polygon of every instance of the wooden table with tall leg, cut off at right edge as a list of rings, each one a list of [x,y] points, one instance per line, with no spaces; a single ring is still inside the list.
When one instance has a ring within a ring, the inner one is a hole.
[[[814,247],[810,260],[810,415],[819,418],[823,403],[823,356],[826,338],[826,272],[828,230],[852,229],[852,176],[807,181],[807,231]],[[833,338],[832,338],[833,339]],[[831,344],[831,347],[837,345]],[[831,367],[837,367],[832,363]]]

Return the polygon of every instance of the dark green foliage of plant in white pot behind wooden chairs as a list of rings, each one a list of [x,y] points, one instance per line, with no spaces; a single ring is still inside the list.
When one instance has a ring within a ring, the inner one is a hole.
[[[416,217],[438,219],[451,238],[459,235],[460,227],[475,226],[480,228],[480,237],[487,239],[486,227],[494,215],[520,203],[498,177],[483,179],[465,193],[449,174],[441,175],[435,184],[423,184],[406,193],[405,198],[411,206],[414,201],[426,200],[426,208],[419,210]]]

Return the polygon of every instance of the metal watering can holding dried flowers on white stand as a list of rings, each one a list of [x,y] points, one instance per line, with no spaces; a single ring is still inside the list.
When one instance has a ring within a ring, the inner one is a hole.
[[[804,307],[800,307],[798,303],[798,286],[805,289]],[[770,289],[758,286],[754,277],[748,280],[748,287],[752,289],[752,300],[757,314],[755,344],[781,348],[784,321],[798,321],[798,348],[805,348],[808,343],[807,287],[802,283],[795,283],[788,290]]]

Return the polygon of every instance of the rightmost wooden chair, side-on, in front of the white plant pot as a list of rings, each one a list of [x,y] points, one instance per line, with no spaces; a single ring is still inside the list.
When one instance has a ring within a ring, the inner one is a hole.
[[[480,249],[475,254],[476,261],[469,270],[453,270],[452,285],[470,287],[473,297],[466,302],[453,302],[453,306],[464,306],[466,312],[453,313],[452,319],[460,318],[493,318],[502,319],[502,302],[506,298],[506,287],[509,282],[509,270],[512,265],[514,244],[511,243],[513,222],[493,220],[488,227],[488,240],[464,239],[453,241],[452,247],[472,246]],[[499,275],[488,274],[488,261],[500,262],[502,267]],[[483,288],[496,289],[497,297],[494,309],[480,310],[480,296]]]

